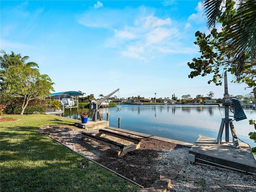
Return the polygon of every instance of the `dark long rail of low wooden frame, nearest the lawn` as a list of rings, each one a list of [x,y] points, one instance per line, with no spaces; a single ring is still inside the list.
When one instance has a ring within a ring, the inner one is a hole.
[[[82,133],[83,138],[87,138],[87,139],[91,139],[94,140],[100,144],[106,145],[106,146],[110,146],[111,148],[117,149],[117,150],[123,150],[124,149],[124,145],[120,144],[120,143],[116,143],[114,141],[111,141],[109,139],[106,138],[101,138],[101,137],[97,137],[88,133]]]

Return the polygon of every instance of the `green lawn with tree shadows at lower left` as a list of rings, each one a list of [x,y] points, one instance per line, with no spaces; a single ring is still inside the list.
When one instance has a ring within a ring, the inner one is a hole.
[[[75,121],[51,115],[5,115],[20,120],[0,124],[1,192],[134,192],[140,188],[89,162],[37,132]],[[87,169],[78,168],[84,162]]]

